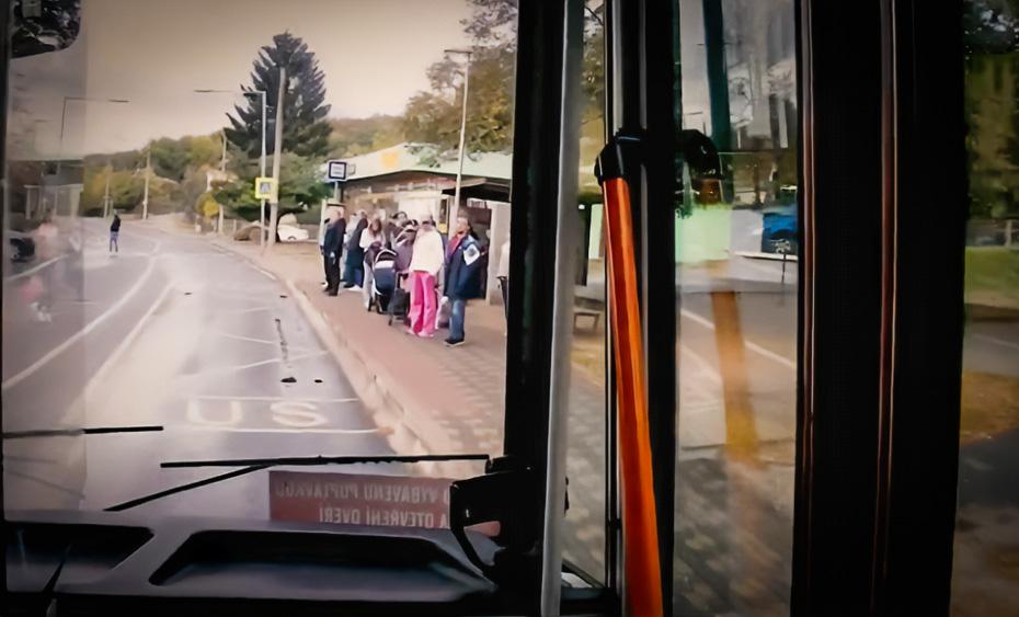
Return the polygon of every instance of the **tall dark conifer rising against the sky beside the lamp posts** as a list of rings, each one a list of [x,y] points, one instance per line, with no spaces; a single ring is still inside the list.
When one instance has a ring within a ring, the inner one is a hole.
[[[271,107],[266,118],[266,149],[270,152],[275,149],[272,108],[279,93],[279,68],[285,67],[283,149],[302,157],[324,157],[329,151],[330,126],[325,122],[329,105],[324,104],[325,73],[319,68],[314,53],[299,37],[285,32],[273,37],[273,45],[262,47],[253,67],[251,85],[241,87],[250,93],[247,104],[234,105],[236,116],[227,114],[231,124],[227,138],[251,158],[261,155],[262,96],[256,92],[262,91]]]

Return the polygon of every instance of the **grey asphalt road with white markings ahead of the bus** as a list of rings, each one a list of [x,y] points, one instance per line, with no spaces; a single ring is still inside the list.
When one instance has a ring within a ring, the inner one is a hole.
[[[164,431],[5,439],[8,509],[102,510],[229,470],[159,467],[169,460],[390,452],[285,284],[133,224],[111,256],[103,224],[84,226],[82,256],[4,281],[3,431]],[[51,322],[24,306],[33,277],[51,292]],[[267,482],[260,471],[138,511],[265,518]]]

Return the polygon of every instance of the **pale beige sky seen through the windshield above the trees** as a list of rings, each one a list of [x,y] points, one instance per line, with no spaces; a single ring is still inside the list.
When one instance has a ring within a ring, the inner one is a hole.
[[[73,45],[12,62],[12,156],[213,133],[239,96],[194,90],[250,83],[259,48],[284,31],[318,57],[331,117],[399,114],[443,49],[467,44],[468,15],[466,0],[82,0]],[[65,115],[65,96],[95,101],[70,101]]]

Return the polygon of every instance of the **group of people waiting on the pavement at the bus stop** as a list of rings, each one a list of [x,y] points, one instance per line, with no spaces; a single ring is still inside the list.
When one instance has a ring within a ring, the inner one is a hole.
[[[391,250],[396,253],[393,265],[398,285],[410,294],[407,332],[433,338],[438,327],[439,307],[448,302],[449,336],[445,343],[448,346],[463,344],[467,300],[480,296],[484,263],[482,245],[466,216],[457,218],[456,228],[447,239],[436,229],[431,214],[417,221],[404,213],[387,219],[385,210],[377,210],[370,217],[365,210],[358,210],[347,221],[344,208],[339,206],[332,208],[325,220],[320,244],[325,294],[337,295],[342,283],[344,288],[359,289],[365,306],[370,306],[371,266],[379,251]]]

